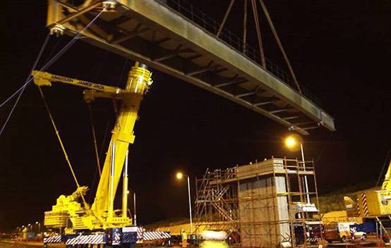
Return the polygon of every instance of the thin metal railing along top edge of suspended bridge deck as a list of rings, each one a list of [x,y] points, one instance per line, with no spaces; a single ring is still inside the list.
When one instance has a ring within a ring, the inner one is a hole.
[[[220,23],[218,23],[215,19],[207,16],[203,11],[200,11],[198,8],[195,8],[192,4],[188,3],[186,0],[157,0],[161,3],[167,4],[174,11],[181,13],[181,15],[185,16],[189,20],[193,21],[196,25],[202,27],[207,32],[210,32],[211,35],[216,36],[220,27]],[[262,60],[260,57],[260,51],[254,49],[252,46],[248,44],[243,45],[243,39],[238,37],[236,34],[228,30],[226,27],[223,27],[220,34],[219,39],[221,39],[224,43],[231,46],[231,48],[239,51],[241,54],[249,58],[251,61],[254,61],[258,65],[262,64]],[[266,70],[278,77],[282,82],[289,87],[293,88],[297,91],[297,87],[294,83],[293,77],[286,73],[284,70],[279,68],[275,63],[272,63],[269,59],[266,60]],[[301,94],[305,97],[313,101],[315,104],[320,105],[320,100],[318,97],[315,97],[306,87],[300,85]]]

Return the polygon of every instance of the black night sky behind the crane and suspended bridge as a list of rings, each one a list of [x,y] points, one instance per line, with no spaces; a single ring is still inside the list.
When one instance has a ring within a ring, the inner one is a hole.
[[[212,8],[210,2],[193,4],[221,20],[228,1],[215,1]],[[242,1],[238,2],[227,27],[240,35]],[[22,85],[35,61],[47,35],[46,4],[14,0],[1,10],[1,37],[8,45],[1,53],[0,102]],[[337,132],[315,130],[304,137],[306,157],[317,160],[318,189],[325,193],[376,181],[391,147],[391,2],[265,0],[265,4],[299,81],[335,117]],[[270,30],[264,20],[261,24],[268,58],[281,61]],[[251,25],[248,32],[250,43],[256,44]],[[52,37],[42,63],[68,41]],[[131,63],[76,42],[49,71],[123,85],[122,71]],[[282,147],[282,137],[288,134],[284,126],[159,71],[154,70],[154,80],[130,150],[130,185],[138,194],[140,223],[187,216],[186,185],[174,180],[178,169],[195,178],[207,167],[299,156]],[[44,92],[79,181],[93,185],[90,122],[80,89],[55,85]],[[11,106],[0,109],[1,125]],[[112,104],[99,100],[93,113],[101,144],[107,123],[113,125]],[[59,194],[75,189],[34,85],[25,90],[0,136],[0,168],[0,230],[41,220]]]

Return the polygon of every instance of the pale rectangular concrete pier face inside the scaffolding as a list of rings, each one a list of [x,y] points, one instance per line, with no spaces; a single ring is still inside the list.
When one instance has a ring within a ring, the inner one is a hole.
[[[242,166],[241,171],[252,171],[259,166]],[[242,247],[275,247],[284,237],[289,237],[287,197],[275,197],[277,192],[287,192],[286,189],[285,178],[272,174],[240,183],[238,197]]]

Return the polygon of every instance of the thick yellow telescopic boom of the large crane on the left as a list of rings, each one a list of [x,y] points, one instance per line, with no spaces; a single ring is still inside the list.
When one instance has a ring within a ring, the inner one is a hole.
[[[136,76],[135,76],[136,75]],[[123,106],[118,120],[112,131],[112,140],[104,160],[102,177],[100,178],[92,204],[92,211],[98,216],[106,217],[107,224],[117,224],[126,221],[126,209],[122,209],[122,218],[114,218],[114,197],[121,178],[129,144],[133,144],[135,136],[133,128],[138,118],[138,109],[143,95],[150,85],[150,73],[143,66],[134,66],[128,76],[124,90],[127,97],[123,98]],[[124,170],[126,172],[126,170]],[[124,173],[124,175],[127,173]],[[127,185],[127,175],[124,176],[124,185]],[[127,189],[127,187],[126,187]],[[123,205],[126,204],[127,190],[123,191]]]

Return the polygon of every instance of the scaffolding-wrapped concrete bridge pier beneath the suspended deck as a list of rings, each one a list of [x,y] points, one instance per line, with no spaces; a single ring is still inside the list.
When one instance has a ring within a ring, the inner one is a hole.
[[[309,247],[322,238],[313,161],[265,159],[207,170],[196,181],[196,229],[224,230],[252,248]]]

